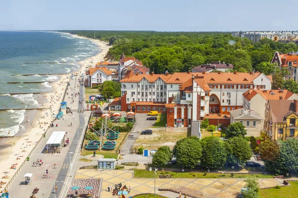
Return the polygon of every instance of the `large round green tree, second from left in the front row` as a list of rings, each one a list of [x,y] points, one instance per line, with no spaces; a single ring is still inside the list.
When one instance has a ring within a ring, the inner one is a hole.
[[[182,138],[173,148],[176,161],[182,167],[194,168],[202,156],[201,141],[196,136]]]

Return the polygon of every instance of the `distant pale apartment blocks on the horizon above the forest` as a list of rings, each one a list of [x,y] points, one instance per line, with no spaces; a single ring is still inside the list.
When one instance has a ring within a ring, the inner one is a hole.
[[[233,37],[245,37],[255,43],[258,43],[263,38],[284,43],[298,43],[298,31],[233,32],[231,35]]]

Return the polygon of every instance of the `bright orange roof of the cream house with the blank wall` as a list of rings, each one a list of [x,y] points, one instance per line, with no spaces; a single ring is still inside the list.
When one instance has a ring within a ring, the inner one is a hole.
[[[265,100],[269,99],[289,99],[291,96],[294,95],[293,92],[289,90],[253,90],[250,89],[247,92],[243,93],[243,97],[250,101],[254,96],[260,94]]]

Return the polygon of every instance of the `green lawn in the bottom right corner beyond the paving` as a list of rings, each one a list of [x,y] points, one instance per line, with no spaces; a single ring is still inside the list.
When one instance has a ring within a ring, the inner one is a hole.
[[[290,186],[281,189],[261,189],[260,198],[297,198],[298,197],[298,181],[290,182]]]

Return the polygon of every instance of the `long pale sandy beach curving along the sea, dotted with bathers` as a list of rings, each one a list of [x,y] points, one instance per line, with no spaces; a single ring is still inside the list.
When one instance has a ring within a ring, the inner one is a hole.
[[[61,33],[68,34],[69,33]],[[77,35],[72,35],[75,38],[88,39]],[[95,56],[82,60],[79,63],[80,67],[74,73],[84,73],[86,67],[95,65],[97,62],[103,61],[109,48],[107,43],[88,39],[95,43],[101,52]],[[56,114],[60,108],[60,102],[62,102],[65,95],[68,81],[70,80],[70,74],[60,76],[58,81],[51,83],[52,93],[44,93],[35,95],[35,99],[41,104],[41,107],[47,108],[43,110],[27,110],[25,112],[25,119],[21,123],[25,128],[23,133],[18,133],[16,137],[7,137],[0,139],[0,181],[5,184],[0,185],[0,190],[3,191],[10,178],[16,173],[20,164],[22,164],[28,154],[35,148],[38,141],[43,137],[43,134],[49,128],[50,123],[54,122],[52,114]],[[32,122],[32,123],[31,123]],[[2,178],[2,177],[6,178]]]

